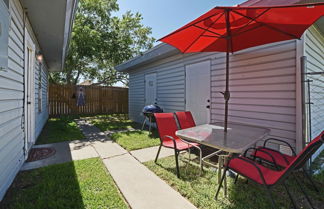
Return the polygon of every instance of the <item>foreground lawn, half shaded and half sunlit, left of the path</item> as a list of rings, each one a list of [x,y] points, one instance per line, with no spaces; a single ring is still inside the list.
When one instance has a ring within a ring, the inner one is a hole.
[[[21,172],[2,209],[128,208],[99,158]]]

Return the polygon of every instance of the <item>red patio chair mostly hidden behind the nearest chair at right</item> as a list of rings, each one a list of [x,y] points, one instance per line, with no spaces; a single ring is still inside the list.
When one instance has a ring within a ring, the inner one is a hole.
[[[315,143],[316,140],[319,140],[320,136],[323,135],[323,133],[324,133],[324,131],[318,137],[316,137],[314,140],[312,140],[311,143]],[[269,146],[267,146],[268,142],[271,142],[271,141],[281,142],[283,144],[286,144],[290,148],[292,155],[283,154],[280,151],[272,149]],[[262,150],[264,152],[258,152],[258,150]],[[292,146],[288,142],[280,140],[280,139],[275,139],[275,138],[269,138],[269,139],[265,140],[263,146],[257,147],[257,150],[253,153],[253,157],[260,159],[261,161],[265,161],[270,164],[273,164],[274,162],[273,162],[272,158],[268,154],[265,154],[265,152],[271,154],[273,156],[273,158],[276,160],[276,164],[282,168],[286,168],[297,157],[295,150],[292,148]],[[303,166],[297,166],[296,169],[298,169],[298,170],[302,169],[304,176],[312,184],[314,190],[319,192],[318,188],[316,187],[311,176],[307,173],[305,168]]]

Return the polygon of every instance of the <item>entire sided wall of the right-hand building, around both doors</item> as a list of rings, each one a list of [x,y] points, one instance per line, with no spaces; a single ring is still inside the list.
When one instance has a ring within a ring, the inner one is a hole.
[[[176,55],[129,71],[130,118],[142,122],[144,76],[157,73],[157,98],[166,112],[185,109],[185,65],[210,59],[211,120],[224,120],[225,54]],[[264,45],[230,58],[229,120],[271,128],[271,136],[296,140],[296,41]],[[197,84],[198,85],[198,84]]]

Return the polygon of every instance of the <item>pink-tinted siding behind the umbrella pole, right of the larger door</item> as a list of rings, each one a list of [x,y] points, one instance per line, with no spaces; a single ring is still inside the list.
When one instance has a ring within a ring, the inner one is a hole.
[[[224,120],[225,57],[212,62],[212,122]],[[296,140],[296,41],[279,42],[230,57],[229,121],[265,126],[270,135]]]

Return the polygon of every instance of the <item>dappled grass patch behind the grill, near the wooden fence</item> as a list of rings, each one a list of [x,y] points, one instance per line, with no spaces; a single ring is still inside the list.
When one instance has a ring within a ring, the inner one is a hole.
[[[91,123],[101,131],[118,131],[139,129],[140,124],[127,119],[125,115],[98,115],[91,119]]]

